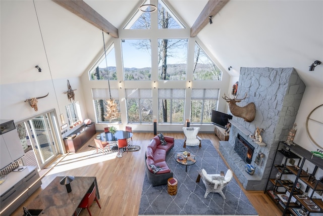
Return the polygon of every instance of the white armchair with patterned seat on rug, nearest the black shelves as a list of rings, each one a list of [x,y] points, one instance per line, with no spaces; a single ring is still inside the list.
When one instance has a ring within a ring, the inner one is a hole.
[[[226,198],[222,190],[233,178],[231,169],[228,169],[225,176],[221,176],[220,174],[207,174],[205,169],[202,169],[199,172],[199,175],[206,188],[204,198],[206,198],[209,193],[219,193],[224,199]]]

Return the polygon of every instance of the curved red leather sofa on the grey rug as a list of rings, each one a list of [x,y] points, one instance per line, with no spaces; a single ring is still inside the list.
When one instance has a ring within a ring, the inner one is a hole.
[[[146,175],[152,186],[165,185],[167,180],[173,177],[173,172],[168,167],[165,159],[166,155],[174,147],[174,138],[165,136],[164,140],[167,144],[161,145],[159,137],[155,136],[147,146],[145,155]],[[160,170],[154,174],[151,165],[155,165]]]

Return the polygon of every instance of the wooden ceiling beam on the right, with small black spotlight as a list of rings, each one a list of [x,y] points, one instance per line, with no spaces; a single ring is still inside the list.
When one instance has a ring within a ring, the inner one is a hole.
[[[229,0],[208,0],[200,15],[191,27],[191,37],[195,37],[209,23],[209,17],[216,16]]]

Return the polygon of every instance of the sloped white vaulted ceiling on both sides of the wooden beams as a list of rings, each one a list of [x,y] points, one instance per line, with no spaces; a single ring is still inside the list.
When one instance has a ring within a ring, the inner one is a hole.
[[[85,2],[117,28],[142,4]],[[166,3],[191,27],[207,1]],[[41,34],[33,1],[0,4],[1,84],[81,76],[102,52],[101,30],[54,2],[35,1]],[[323,64],[308,71],[313,61],[323,62],[323,1],[231,0],[212,21],[197,37],[214,61],[232,66],[232,76],[240,67],[294,67],[306,86],[323,88]]]

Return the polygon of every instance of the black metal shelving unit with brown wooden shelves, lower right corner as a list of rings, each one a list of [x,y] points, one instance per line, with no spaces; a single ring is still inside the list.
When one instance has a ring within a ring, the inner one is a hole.
[[[323,192],[323,183],[315,176],[318,170],[323,170],[321,158],[297,144],[279,142],[264,193],[274,200],[283,215],[322,214],[323,201],[317,196]]]

